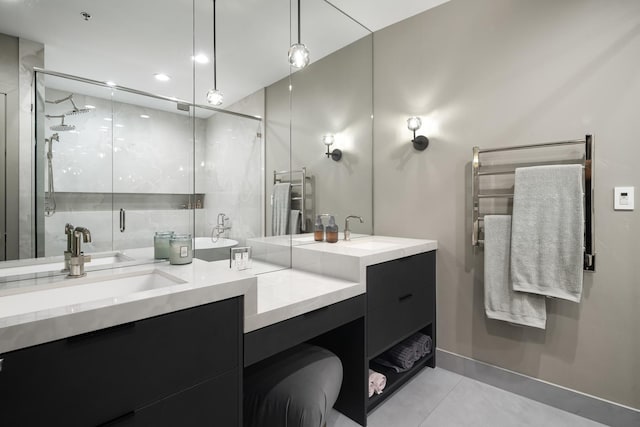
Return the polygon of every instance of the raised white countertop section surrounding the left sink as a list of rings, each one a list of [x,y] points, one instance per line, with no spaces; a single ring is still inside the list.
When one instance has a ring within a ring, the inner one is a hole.
[[[87,298],[71,305],[54,304],[36,311],[28,306],[23,309],[12,307],[8,316],[0,310],[0,354],[239,295],[245,296],[245,316],[256,312],[257,279],[254,276],[230,270],[228,264],[198,259],[186,265],[164,262],[93,271],[80,279],[58,277],[52,281],[47,277],[26,281],[22,285],[39,288],[82,286],[153,270],[178,278],[183,283],[112,298]],[[3,292],[10,296],[18,289],[14,287]]]

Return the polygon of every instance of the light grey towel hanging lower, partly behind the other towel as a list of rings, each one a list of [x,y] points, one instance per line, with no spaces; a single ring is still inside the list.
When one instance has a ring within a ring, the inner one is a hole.
[[[545,297],[516,292],[509,280],[511,215],[484,217],[484,307],[490,319],[544,329]]]

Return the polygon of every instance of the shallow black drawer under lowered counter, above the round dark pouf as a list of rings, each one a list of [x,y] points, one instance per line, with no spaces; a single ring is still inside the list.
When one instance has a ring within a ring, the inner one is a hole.
[[[244,335],[244,366],[273,356],[313,337],[364,316],[359,295]]]

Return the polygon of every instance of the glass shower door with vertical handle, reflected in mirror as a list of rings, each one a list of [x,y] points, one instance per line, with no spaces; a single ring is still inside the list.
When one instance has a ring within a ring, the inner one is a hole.
[[[193,234],[192,111],[166,98],[114,91],[114,250],[152,260],[156,232]]]

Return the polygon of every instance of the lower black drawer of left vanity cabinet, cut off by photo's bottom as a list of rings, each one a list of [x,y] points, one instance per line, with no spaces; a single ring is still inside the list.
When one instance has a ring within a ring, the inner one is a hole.
[[[104,427],[239,426],[238,370],[132,412]]]

